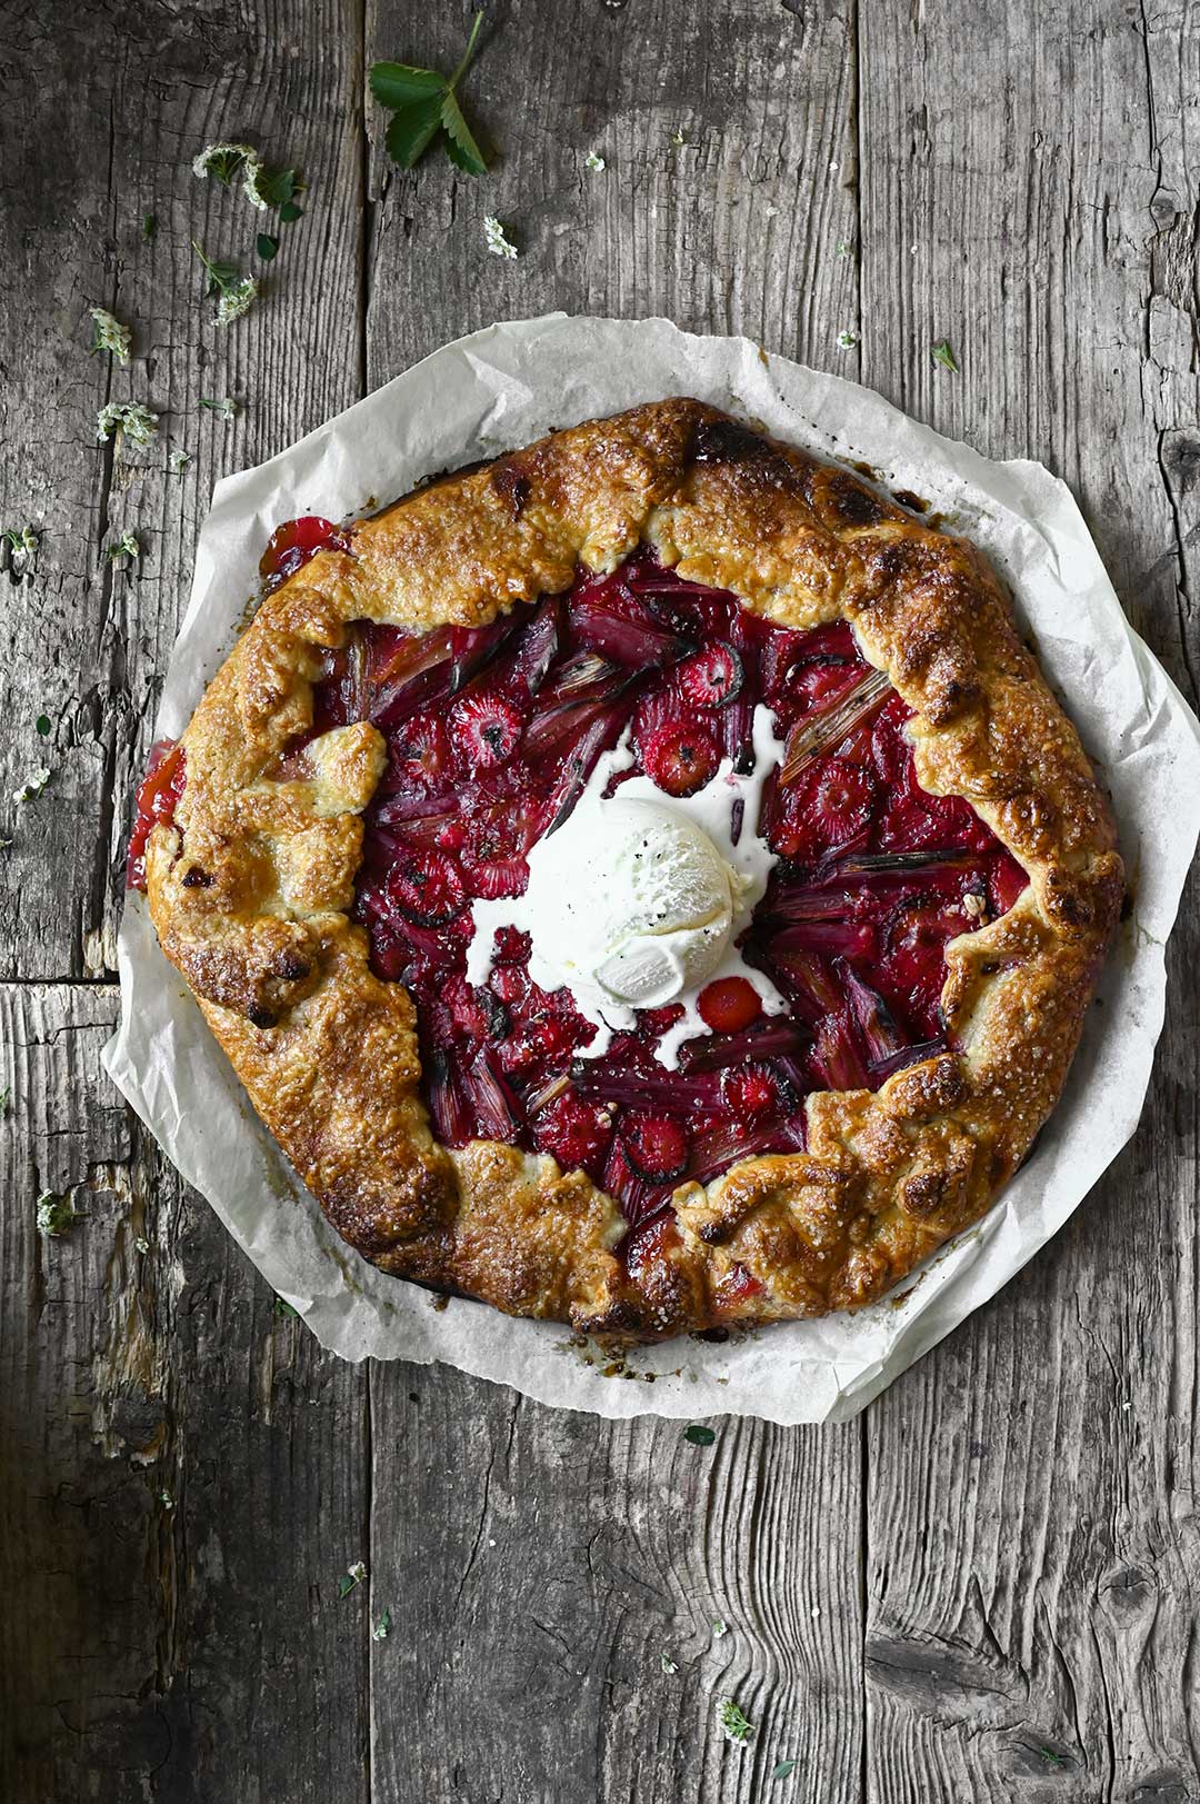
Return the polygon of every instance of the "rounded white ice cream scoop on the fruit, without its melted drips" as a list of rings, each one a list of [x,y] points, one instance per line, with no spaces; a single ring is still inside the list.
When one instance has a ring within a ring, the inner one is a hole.
[[[534,846],[525,906],[559,981],[660,1008],[722,962],[743,884],[686,814],[617,796]]]

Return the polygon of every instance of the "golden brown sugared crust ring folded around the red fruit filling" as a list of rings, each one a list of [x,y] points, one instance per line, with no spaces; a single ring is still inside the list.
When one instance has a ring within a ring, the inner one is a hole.
[[[812,1095],[805,1153],[680,1185],[630,1274],[621,1212],[585,1176],[429,1131],[413,1005],[346,915],[379,732],[328,732],[300,769],[283,752],[350,621],[476,626],[641,541],[789,626],[848,619],[915,711],[920,783],[967,797],[1030,888],[947,947],[956,1052],[875,1095]],[[695,400],[556,433],[354,525],[263,601],[184,749],[175,823],[150,835],[153,922],[337,1232],[386,1272],[590,1331],[857,1308],[978,1220],[1057,1100],[1121,904],[1108,806],[983,557]]]

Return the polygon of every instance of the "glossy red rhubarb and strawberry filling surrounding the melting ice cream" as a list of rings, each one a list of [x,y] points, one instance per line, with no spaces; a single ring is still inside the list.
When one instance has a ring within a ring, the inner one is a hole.
[[[327,523],[300,527],[278,556],[334,543],[316,543]],[[496,931],[487,983],[467,983],[469,898],[523,891],[531,848],[626,727],[633,770],[684,797],[724,758],[749,769],[760,702],[787,754],[762,819],[736,824],[780,862],[742,954],[785,1014],[763,1014],[745,978],[716,980],[698,998],[711,1032],[668,1070],[655,1046],[678,1005],[639,1010],[605,1054],[579,1057],[592,1026],[567,990],[531,980],[514,927]],[[803,1147],[810,1090],[875,1090],[944,1046],[946,942],[1005,913],[1025,873],[967,803],[920,788],[908,713],[845,622],[774,626],[644,552],[491,626],[411,639],[359,624],[327,660],[314,731],[374,720],[388,741],[355,915],[375,972],[417,1001],[438,1138],[500,1138],[585,1171],[619,1200],[637,1274],[677,1234],[680,1182]],[[182,787],[182,758],[177,769]],[[175,774],[161,770],[144,806],[170,817]],[[722,1299],[752,1313],[758,1288],[738,1268]]]

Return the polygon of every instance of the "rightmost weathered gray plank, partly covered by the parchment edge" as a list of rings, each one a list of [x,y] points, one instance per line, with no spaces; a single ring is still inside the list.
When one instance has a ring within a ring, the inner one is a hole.
[[[861,7],[863,69],[888,70],[863,83],[863,375],[1063,474],[1193,700],[1196,25]],[[870,1413],[881,1804],[1200,1786],[1196,913],[1193,886],[1131,1149]]]

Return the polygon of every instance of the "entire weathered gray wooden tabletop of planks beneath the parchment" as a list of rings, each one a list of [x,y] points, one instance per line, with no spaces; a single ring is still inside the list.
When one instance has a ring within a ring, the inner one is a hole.
[[[1195,895],[1142,1129],[1059,1241],[852,1427],[709,1450],[321,1355],[97,1063],[213,480],[494,318],[745,332],[1043,458],[1195,702],[1200,11],[500,0],[482,180],[401,175],[365,106],[379,56],[453,65],[448,0],[0,25],[0,525],[42,534],[0,577],[2,794],[52,770],[0,823],[0,1799],[1200,1797]],[[258,220],[189,164],[229,137],[309,191],[222,332],[189,240]],[[128,372],[88,359],[90,303],[134,323]],[[110,399],[162,413],[115,480]],[[85,1214],[58,1241],[45,1191]]]

